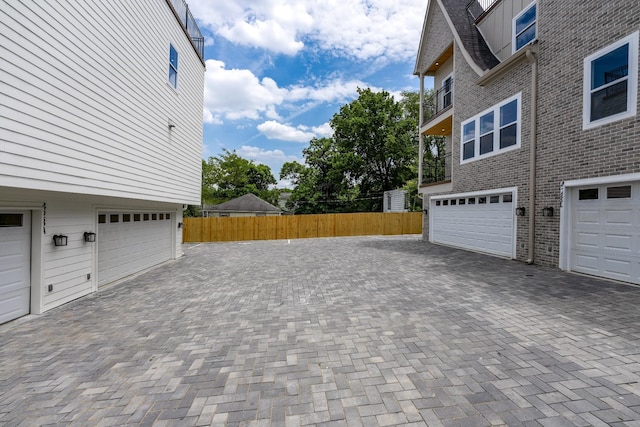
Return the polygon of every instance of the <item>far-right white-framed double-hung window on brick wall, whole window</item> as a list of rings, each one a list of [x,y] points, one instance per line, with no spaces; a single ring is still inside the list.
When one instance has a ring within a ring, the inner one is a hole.
[[[582,128],[636,115],[638,32],[584,59]]]

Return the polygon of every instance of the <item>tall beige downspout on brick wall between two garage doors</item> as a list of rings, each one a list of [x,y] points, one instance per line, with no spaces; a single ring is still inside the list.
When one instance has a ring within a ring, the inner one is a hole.
[[[529,142],[529,246],[527,249],[527,264],[533,264],[535,259],[535,213],[536,213],[536,145],[537,145],[537,116],[538,116],[538,60],[527,50],[527,59],[531,63],[531,135]]]

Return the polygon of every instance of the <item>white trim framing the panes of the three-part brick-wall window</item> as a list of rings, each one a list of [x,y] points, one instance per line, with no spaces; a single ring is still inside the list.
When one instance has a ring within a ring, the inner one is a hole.
[[[517,109],[516,109],[516,143],[514,145],[510,145],[509,147],[500,148],[500,108],[503,106],[517,101]],[[493,112],[493,150],[489,153],[480,154],[480,118]],[[470,122],[475,123],[474,129],[474,155],[471,158],[464,158],[464,143],[469,141],[464,141],[464,126],[469,124]],[[522,92],[518,92],[517,94],[487,108],[486,110],[476,114],[475,116],[463,121],[460,123],[460,164],[466,164],[470,162],[475,162],[477,160],[486,159],[487,157],[493,157],[500,155],[502,153],[506,153],[508,151],[517,150],[521,146],[522,141]]]

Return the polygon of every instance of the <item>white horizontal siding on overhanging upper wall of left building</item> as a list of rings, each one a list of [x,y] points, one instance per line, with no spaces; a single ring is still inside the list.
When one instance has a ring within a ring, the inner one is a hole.
[[[204,67],[166,3],[8,2],[0,16],[0,185],[200,202]]]

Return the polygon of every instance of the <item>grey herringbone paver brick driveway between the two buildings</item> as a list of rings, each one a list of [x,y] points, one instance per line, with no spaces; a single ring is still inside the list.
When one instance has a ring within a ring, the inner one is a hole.
[[[0,327],[0,424],[640,425],[640,289],[418,236],[185,246]]]

